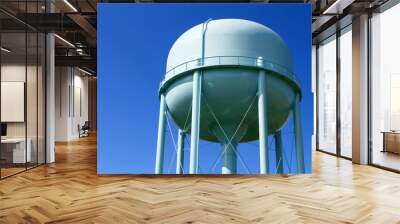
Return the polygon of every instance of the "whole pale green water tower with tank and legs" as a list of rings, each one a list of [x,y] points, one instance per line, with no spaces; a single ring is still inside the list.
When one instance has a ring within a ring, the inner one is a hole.
[[[218,19],[192,27],[173,44],[159,89],[155,173],[163,173],[166,113],[179,128],[176,173],[190,134],[190,174],[198,173],[199,140],[221,143],[223,174],[235,174],[237,146],[259,140],[260,173],[268,170],[268,135],[282,160],[281,128],[293,114],[298,173],[304,173],[301,89],[290,51],[268,27],[243,19]],[[282,163],[277,168],[283,170]]]

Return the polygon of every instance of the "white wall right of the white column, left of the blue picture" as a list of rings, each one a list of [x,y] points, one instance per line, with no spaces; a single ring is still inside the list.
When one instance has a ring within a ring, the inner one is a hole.
[[[88,77],[72,67],[56,67],[55,73],[55,140],[70,141],[88,120]]]

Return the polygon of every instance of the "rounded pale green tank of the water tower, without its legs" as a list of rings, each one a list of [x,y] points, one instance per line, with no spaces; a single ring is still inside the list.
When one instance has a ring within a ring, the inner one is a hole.
[[[290,51],[268,27],[243,19],[211,20],[173,44],[160,94],[177,126],[190,133],[193,73],[202,74],[200,138],[220,142],[222,126],[237,142],[258,139],[259,71],[267,75],[268,133],[281,129],[300,93]],[[245,116],[246,115],[246,116]],[[235,133],[240,125],[240,133]]]

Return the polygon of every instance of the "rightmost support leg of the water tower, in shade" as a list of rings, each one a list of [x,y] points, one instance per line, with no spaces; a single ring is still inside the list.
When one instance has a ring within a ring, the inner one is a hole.
[[[297,172],[305,173],[299,94],[296,95],[296,102],[294,103],[293,115],[294,115],[294,134],[295,134],[296,157],[297,157]]]

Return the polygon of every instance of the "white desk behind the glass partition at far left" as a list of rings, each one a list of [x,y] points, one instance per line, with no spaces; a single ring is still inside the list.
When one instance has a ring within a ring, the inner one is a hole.
[[[6,160],[6,163],[31,162],[32,140],[28,138],[26,142],[28,143],[27,145],[28,147],[26,147],[26,154],[25,154],[25,138],[1,139],[1,156],[3,159]]]

